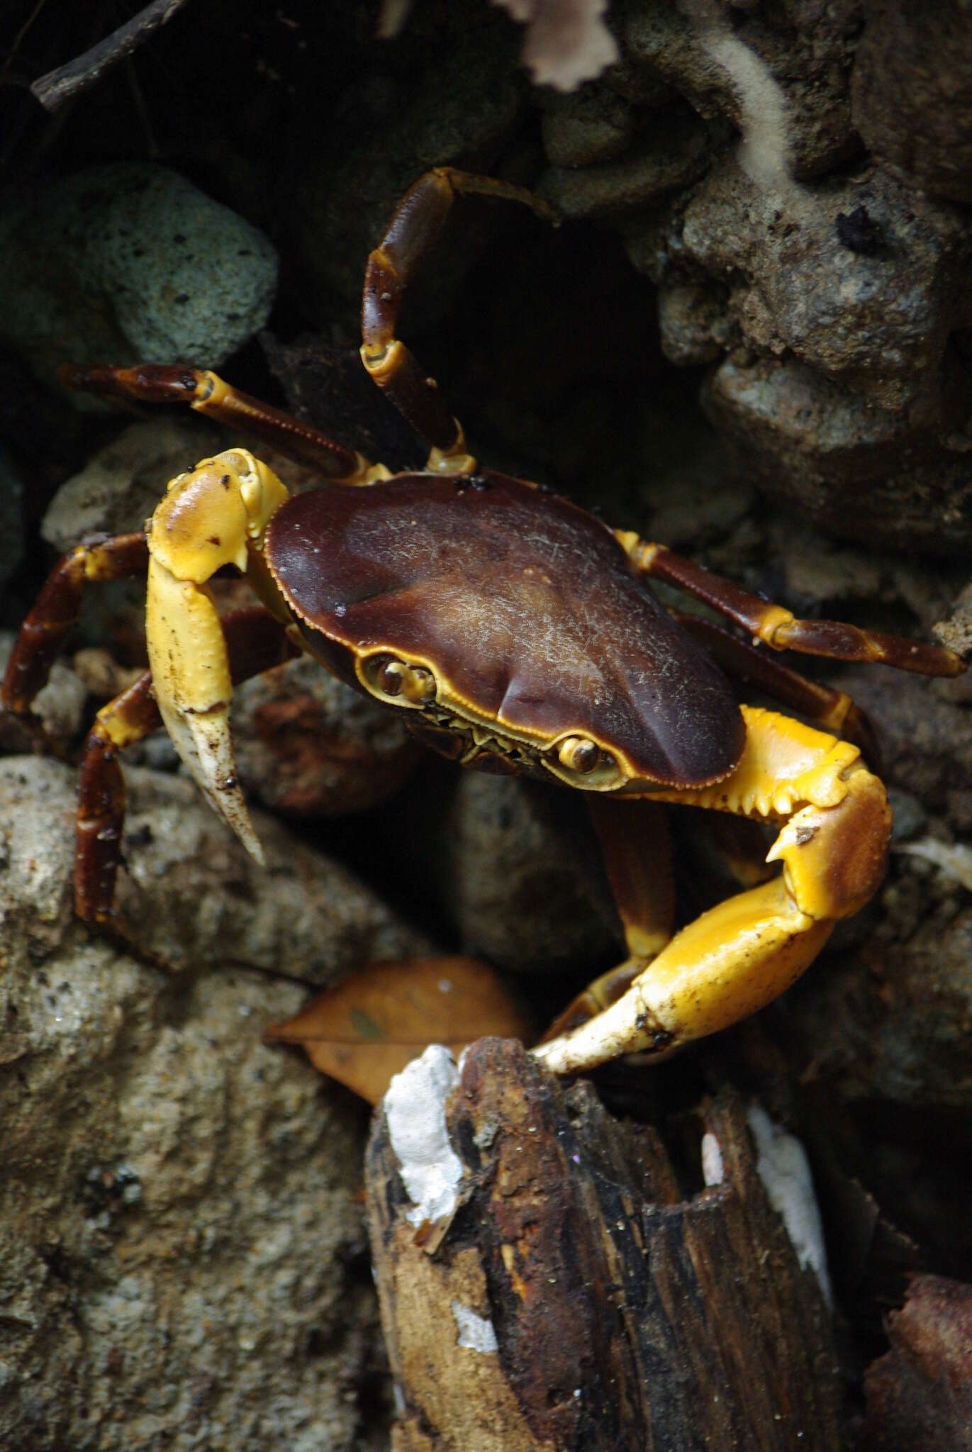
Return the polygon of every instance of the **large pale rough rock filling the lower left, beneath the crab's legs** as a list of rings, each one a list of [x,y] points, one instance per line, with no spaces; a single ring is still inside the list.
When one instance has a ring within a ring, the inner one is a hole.
[[[375,1356],[363,1115],[260,1025],[304,999],[276,973],[417,941],[266,819],[270,871],[247,880],[189,783],[129,778],[126,903],[177,977],[73,919],[73,774],[0,764],[0,1440],[379,1446],[355,1392]]]

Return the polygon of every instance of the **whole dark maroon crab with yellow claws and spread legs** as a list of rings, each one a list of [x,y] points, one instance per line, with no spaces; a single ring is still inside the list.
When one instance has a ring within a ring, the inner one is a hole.
[[[439,168],[404,196],[368,260],[362,360],[427,441],[420,472],[392,475],[211,372],[68,370],[74,386],[103,395],[187,404],[312,463],[323,479],[291,497],[257,456],[228,449],[173,479],[144,533],[83,540],[23,623],[3,704],[29,711],[87,581],[147,572],[150,671],[99,711],[80,777],[76,909],[105,928],[116,923],[118,754],[164,725],[262,860],[230,698],[234,682],[299,652],[463,767],[583,791],[628,955],[533,1051],[559,1073],[622,1054],[664,1057],[782,993],[885,868],[891,812],[867,765],[866,719],[847,694],[766,648],[930,675],[965,666],[940,646],[795,619],[529,481],[481,469],[434,380],[395,337],[402,290],[461,193],[548,215],[517,187]],[[259,607],[219,617],[208,582],[225,566],[247,578]],[[670,613],[651,578],[703,601],[751,643]],[[740,706],[738,681],[802,719]],[[773,823],[766,861],[780,871],[673,934],[663,803]]]

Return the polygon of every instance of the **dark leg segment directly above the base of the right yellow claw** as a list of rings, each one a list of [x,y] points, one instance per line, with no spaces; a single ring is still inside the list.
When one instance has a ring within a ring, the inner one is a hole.
[[[766,650],[740,640],[700,616],[679,614],[677,620],[700,640],[726,675],[745,685],[756,685],[780,706],[805,716],[815,726],[843,736],[860,746],[872,771],[880,770],[880,749],[875,729],[853,697],[834,691],[830,685],[808,681],[799,671],[773,659]]]

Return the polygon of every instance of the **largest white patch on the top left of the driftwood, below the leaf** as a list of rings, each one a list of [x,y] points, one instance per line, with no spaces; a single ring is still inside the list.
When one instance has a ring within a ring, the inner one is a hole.
[[[452,1054],[430,1044],[395,1074],[385,1093],[388,1138],[414,1208],[413,1225],[443,1220],[456,1208],[462,1162],[449,1143],[446,1098],[459,1083]]]

